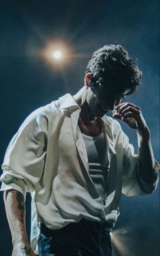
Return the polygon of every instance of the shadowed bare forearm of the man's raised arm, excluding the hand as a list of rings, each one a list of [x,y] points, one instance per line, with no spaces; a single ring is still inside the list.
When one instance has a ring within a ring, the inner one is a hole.
[[[140,164],[140,177],[146,183],[155,181],[155,158],[151,144],[151,135],[146,127],[144,132],[138,132],[138,161]]]

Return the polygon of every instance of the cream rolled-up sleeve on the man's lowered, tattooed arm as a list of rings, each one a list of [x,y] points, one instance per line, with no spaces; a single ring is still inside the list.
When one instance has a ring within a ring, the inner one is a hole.
[[[43,143],[19,130],[9,143],[2,165],[1,191],[16,189],[26,196],[35,190],[43,174],[45,151]]]

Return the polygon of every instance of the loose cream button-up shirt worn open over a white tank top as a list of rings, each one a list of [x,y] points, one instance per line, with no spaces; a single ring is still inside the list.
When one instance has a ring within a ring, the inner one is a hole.
[[[2,165],[1,191],[16,189],[32,194],[31,244],[36,244],[39,223],[59,229],[80,221],[115,223],[121,191],[126,196],[151,193],[156,184],[139,176],[138,156],[119,122],[102,117],[106,140],[108,181],[106,200],[89,176],[81,130],[81,109],[70,94],[31,113],[9,143]]]

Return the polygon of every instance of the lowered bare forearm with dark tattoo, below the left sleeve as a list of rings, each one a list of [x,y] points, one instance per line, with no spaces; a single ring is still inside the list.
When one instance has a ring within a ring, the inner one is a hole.
[[[5,191],[4,202],[13,244],[29,244],[25,225],[24,197],[16,190]]]

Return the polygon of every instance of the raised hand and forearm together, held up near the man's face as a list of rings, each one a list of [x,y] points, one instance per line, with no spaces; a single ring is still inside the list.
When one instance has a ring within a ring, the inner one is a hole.
[[[132,103],[120,103],[115,109],[119,109],[119,113],[115,113],[114,117],[123,120],[129,127],[137,130],[140,177],[142,177],[144,182],[152,185],[157,177],[155,173],[155,159],[151,145],[151,134],[140,107]]]

